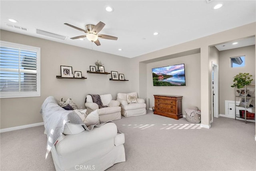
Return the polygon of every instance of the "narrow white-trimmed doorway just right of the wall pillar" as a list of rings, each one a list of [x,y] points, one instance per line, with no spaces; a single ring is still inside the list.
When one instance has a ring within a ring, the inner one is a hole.
[[[219,71],[218,65],[212,62],[212,113],[211,121],[213,117],[219,117]]]

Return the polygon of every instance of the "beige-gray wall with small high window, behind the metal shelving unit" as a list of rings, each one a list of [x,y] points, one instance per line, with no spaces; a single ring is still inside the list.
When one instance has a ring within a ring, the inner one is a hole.
[[[246,72],[252,75],[254,79],[252,85],[255,85],[255,46],[246,46],[231,50],[220,51],[219,80],[220,80],[220,114],[225,114],[225,100],[234,101],[233,77],[238,73]],[[230,58],[245,55],[245,66],[230,68]]]

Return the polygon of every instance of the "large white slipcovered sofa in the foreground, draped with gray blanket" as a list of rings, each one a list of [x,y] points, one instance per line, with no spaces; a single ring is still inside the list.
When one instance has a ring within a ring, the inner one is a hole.
[[[58,140],[51,148],[52,159],[57,171],[104,171],[115,163],[126,160],[123,145],[124,134],[118,133],[115,123],[108,122],[101,127],[94,127],[91,131],[86,131],[82,124],[72,124],[75,123],[73,118],[80,119],[75,111],[66,111],[58,105],[58,101],[54,97],[50,97],[50,100],[49,97],[47,98],[48,103],[43,103],[41,113],[48,142],[54,144]],[[69,120],[66,120],[68,122],[65,121],[64,123],[62,120],[58,122],[56,113],[58,115],[68,115]],[[49,122],[56,122],[56,124],[49,127]],[[83,123],[82,119],[79,122]],[[62,123],[65,125],[62,126]],[[63,133],[60,137],[54,135],[56,127],[64,127],[66,135]],[[55,137],[58,137],[58,139]],[[49,146],[48,143],[47,149]]]

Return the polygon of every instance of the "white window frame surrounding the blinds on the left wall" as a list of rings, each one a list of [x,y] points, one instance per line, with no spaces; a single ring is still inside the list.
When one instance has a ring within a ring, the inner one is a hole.
[[[12,42],[0,41],[0,46],[10,47],[10,48],[18,48],[23,50],[35,51],[36,52],[36,91],[9,91],[9,92],[1,92],[0,98],[14,98],[14,97],[38,97],[41,96],[41,88],[40,88],[40,48],[34,46],[28,46],[23,44],[16,44]],[[13,70],[13,69],[1,69],[2,71]]]

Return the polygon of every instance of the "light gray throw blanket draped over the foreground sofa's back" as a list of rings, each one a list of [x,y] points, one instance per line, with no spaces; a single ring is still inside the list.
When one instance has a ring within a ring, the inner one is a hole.
[[[98,125],[90,125],[86,127],[86,125],[76,112],[72,110],[65,110],[60,107],[58,105],[58,100],[56,100],[53,96],[49,96],[44,100],[40,113],[42,113],[44,128],[48,139],[46,145],[46,158],[50,153],[52,147],[62,135],[64,126],[67,122],[70,122],[74,125],[83,125],[86,131],[91,131],[94,127],[101,127],[105,124],[101,123]],[[120,131],[118,130],[118,132]]]

